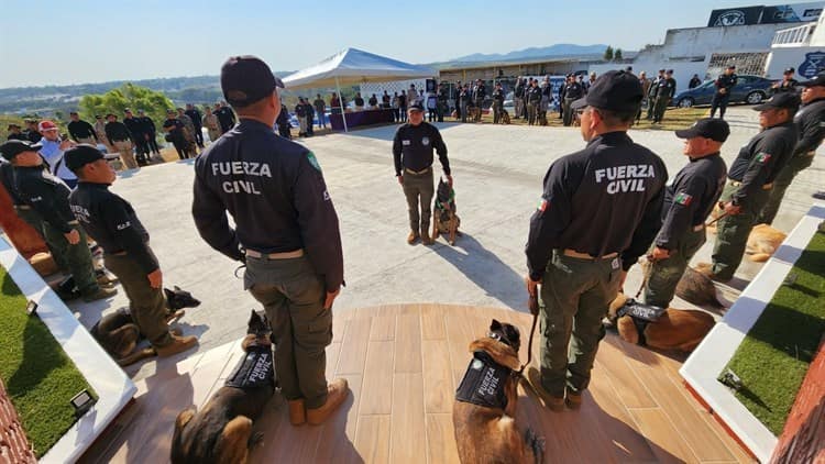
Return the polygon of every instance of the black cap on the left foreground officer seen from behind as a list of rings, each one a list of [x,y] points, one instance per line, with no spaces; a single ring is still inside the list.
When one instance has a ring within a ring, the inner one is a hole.
[[[233,56],[221,67],[223,97],[234,107],[252,104],[272,95],[278,87],[283,89],[284,82],[255,56]]]

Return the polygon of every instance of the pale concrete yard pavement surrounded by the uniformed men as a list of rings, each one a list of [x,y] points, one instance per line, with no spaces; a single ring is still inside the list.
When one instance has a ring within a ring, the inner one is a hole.
[[[739,147],[757,133],[756,112],[734,108],[733,126],[723,155],[729,164]],[[524,245],[529,218],[541,195],[548,166],[562,155],[581,150],[578,129],[443,123],[457,190],[463,236],[451,247],[443,239],[431,247],[409,246],[406,201],[395,180],[391,154],[396,126],[362,130],[300,141],[318,157],[339,213],[344,246],[346,288],[337,311],[408,302],[459,303],[526,311],[522,276]],[[682,143],[668,131],[631,131],[630,135],[658,153],[671,175],[685,163]],[[811,192],[821,189],[825,158],[820,156],[789,189],[776,225],[790,231],[809,209]],[[440,170],[440,169],[439,169]],[[182,320],[185,333],[200,336],[200,350],[237,340],[246,314],[257,308],[233,273],[238,263],[204,243],[190,214],[191,161],[168,163],[127,173],[113,190],[132,202],[152,235],[166,286],[178,285],[204,303]],[[713,236],[696,261],[706,261]],[[734,286],[739,289],[759,266],[746,262]],[[638,287],[638,266],[627,286]],[[725,292],[734,298],[737,291]],[[121,291],[114,299],[91,305],[73,303],[86,327],[101,311],[127,305]],[[674,303],[688,308],[689,303]],[[138,378],[151,375],[154,363]]]

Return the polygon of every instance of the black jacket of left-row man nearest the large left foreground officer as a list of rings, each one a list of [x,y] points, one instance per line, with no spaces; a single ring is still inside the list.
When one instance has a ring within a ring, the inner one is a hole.
[[[80,180],[69,195],[75,218],[107,254],[125,252],[144,274],[161,267],[148,247],[148,232],[129,201],[109,191],[109,184]]]

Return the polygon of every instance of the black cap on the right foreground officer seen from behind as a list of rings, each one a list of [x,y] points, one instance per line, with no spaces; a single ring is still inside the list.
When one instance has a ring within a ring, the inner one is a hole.
[[[587,96],[572,103],[572,109],[595,107],[607,111],[636,112],[641,104],[639,78],[626,70],[609,70],[591,86]]]

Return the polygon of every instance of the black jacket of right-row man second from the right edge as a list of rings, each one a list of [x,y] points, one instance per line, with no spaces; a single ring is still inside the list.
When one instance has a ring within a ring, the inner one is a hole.
[[[796,145],[799,132],[793,122],[768,128],[743,146],[727,176],[741,183],[733,195],[734,205],[748,206],[748,196],[777,178],[788,164]]]

